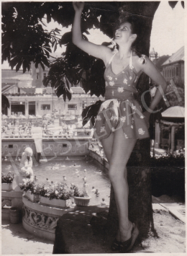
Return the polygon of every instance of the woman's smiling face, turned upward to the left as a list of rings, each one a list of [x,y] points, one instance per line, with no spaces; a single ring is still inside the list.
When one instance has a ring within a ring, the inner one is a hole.
[[[129,22],[122,23],[115,32],[114,41],[116,43],[127,43],[132,37],[131,24]]]

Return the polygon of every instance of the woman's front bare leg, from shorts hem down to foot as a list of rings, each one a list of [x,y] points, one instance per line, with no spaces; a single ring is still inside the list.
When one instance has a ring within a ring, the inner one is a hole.
[[[132,223],[128,218],[127,162],[137,139],[125,138],[122,128],[114,131],[114,139],[111,149],[109,178],[114,187],[114,194],[119,208],[119,231],[121,241],[131,237]]]

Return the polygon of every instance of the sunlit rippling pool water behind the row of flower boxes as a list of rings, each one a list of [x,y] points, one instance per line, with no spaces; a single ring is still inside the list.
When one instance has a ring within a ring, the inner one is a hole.
[[[15,162],[19,167],[19,162]],[[14,172],[15,165],[11,162],[1,162],[4,172]],[[33,164],[33,172],[37,177],[37,182],[45,182],[46,178],[53,182],[65,182],[69,187],[70,183],[78,185],[83,190],[83,178],[86,178],[88,195],[91,196],[89,205],[109,206],[110,181],[106,172],[99,169],[94,160],[90,157],[55,157],[41,162],[39,165]],[[84,171],[86,169],[86,172]],[[94,187],[94,189],[93,189]],[[99,195],[95,190],[99,190]],[[102,200],[104,198],[104,200]]]

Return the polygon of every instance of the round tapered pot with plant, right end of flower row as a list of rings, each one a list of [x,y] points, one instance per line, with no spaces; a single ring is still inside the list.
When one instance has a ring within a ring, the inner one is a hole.
[[[88,195],[86,189],[79,190],[77,185],[71,184],[70,189],[74,197],[74,202],[76,206],[88,206],[91,197]]]

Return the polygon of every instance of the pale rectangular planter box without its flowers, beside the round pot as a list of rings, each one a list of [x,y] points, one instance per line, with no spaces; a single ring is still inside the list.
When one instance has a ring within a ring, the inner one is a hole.
[[[51,199],[50,198],[45,198],[43,196],[40,197],[40,203],[43,206],[52,206],[55,208],[69,208],[71,205],[71,200],[62,200],[62,199]]]

